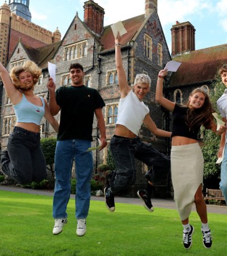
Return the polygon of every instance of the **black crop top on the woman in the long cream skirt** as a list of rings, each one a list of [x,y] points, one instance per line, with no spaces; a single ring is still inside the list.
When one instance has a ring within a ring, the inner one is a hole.
[[[197,140],[200,127],[194,127],[190,129],[190,127],[186,124],[187,111],[187,107],[175,104],[173,111],[173,130],[171,137],[182,136]]]

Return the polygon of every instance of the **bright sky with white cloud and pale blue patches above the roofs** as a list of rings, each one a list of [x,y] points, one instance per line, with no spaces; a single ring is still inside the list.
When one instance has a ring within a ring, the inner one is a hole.
[[[76,12],[83,20],[84,2],[84,0],[30,0],[32,22],[52,32],[58,27],[63,37]],[[94,2],[105,11],[104,26],[145,13],[145,0],[95,0]],[[226,14],[227,0],[158,0],[158,15],[170,53],[170,29],[176,20],[189,21],[195,27],[196,49],[226,44]]]

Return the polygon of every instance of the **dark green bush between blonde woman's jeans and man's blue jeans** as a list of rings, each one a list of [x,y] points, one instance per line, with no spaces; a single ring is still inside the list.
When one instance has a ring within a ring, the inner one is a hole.
[[[56,148],[57,139],[54,137],[41,139],[41,149],[45,156],[47,170],[51,171],[52,176],[54,177],[54,154]]]

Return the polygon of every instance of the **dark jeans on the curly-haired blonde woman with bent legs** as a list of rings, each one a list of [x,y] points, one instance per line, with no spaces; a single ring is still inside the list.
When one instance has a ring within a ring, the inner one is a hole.
[[[47,167],[40,147],[40,133],[14,127],[1,156],[2,170],[19,184],[40,182],[47,177]],[[9,155],[8,155],[9,154]]]

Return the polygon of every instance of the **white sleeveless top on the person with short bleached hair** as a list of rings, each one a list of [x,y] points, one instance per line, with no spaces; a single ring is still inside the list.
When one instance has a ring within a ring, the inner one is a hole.
[[[126,97],[120,98],[116,125],[124,125],[138,135],[144,118],[150,110],[131,90]]]

